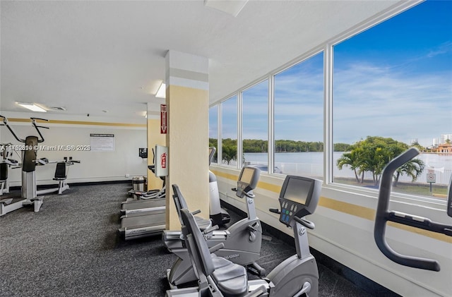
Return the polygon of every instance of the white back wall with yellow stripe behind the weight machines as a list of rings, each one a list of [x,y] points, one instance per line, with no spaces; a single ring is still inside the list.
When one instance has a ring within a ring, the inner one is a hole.
[[[138,147],[147,147],[146,119],[130,121],[124,119],[110,119],[108,117],[77,117],[57,116],[52,114],[6,113],[8,119],[30,119],[30,116],[42,117],[49,120],[64,121],[64,123],[39,123],[49,129],[40,129],[44,136],[44,143],[40,145],[90,145],[90,133],[114,134],[113,152],[96,151],[45,151],[37,152],[37,157],[47,157],[49,160],[62,160],[63,157],[73,157],[80,160],[80,164],[69,167],[68,183],[94,182],[94,181],[120,181],[131,180],[132,176],[147,174],[147,160],[138,157]],[[102,123],[99,125],[99,123]],[[9,121],[9,125],[19,138],[28,135],[37,135],[31,121]],[[20,145],[5,126],[0,126],[0,143],[13,143]],[[20,154],[20,152],[19,152]],[[14,154],[14,159],[20,157]],[[52,184],[55,164],[37,166],[37,184]],[[129,177],[126,177],[129,174]],[[11,169],[8,174],[10,186],[20,186],[21,170]]]

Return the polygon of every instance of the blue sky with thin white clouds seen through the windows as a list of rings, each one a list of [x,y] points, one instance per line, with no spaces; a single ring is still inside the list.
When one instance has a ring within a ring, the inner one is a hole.
[[[372,135],[429,146],[452,133],[451,11],[452,1],[425,1],[335,45],[334,143]],[[267,138],[267,90],[244,91],[244,138]],[[236,135],[236,105],[222,107],[223,138]],[[322,53],[275,76],[274,120],[276,140],[323,141]]]

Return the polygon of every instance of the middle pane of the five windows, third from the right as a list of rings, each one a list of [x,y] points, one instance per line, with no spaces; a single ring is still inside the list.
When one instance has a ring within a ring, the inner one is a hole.
[[[242,92],[243,164],[268,171],[268,80]]]

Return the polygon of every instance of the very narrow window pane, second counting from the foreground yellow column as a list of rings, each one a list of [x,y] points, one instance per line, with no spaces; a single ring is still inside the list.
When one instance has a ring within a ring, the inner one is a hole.
[[[221,102],[221,164],[237,166],[237,96]]]

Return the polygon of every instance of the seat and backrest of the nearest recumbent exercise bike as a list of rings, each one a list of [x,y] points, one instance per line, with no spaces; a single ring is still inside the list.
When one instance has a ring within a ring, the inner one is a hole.
[[[210,254],[203,234],[196,225],[193,214],[186,208],[181,210],[182,221],[186,227],[186,238],[193,239],[194,246],[189,246],[191,257],[199,263],[199,269],[206,277],[212,277],[215,284],[225,297],[239,297],[248,293],[248,275],[245,267],[232,263],[222,257]]]

